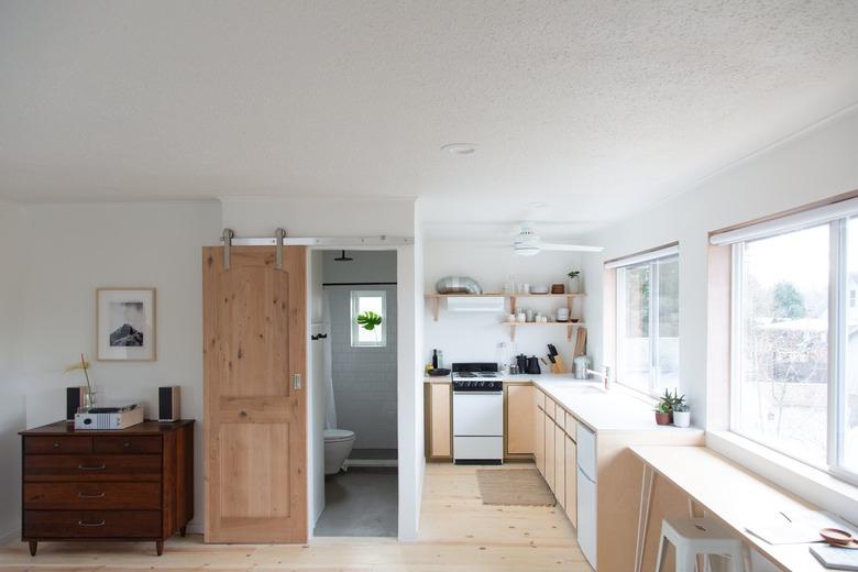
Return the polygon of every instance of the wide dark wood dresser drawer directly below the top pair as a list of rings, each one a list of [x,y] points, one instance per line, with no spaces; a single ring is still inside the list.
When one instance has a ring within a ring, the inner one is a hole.
[[[28,454],[24,481],[160,481],[157,454]]]

